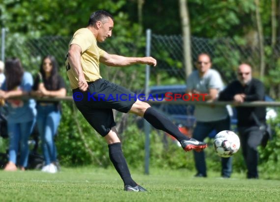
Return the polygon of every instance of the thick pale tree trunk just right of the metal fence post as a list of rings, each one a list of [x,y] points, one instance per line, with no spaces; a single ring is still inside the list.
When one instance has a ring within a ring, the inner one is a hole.
[[[191,27],[190,17],[188,10],[188,0],[179,0],[180,17],[183,33],[183,52],[184,52],[184,66],[185,76],[187,77],[192,73],[192,44],[191,44]]]

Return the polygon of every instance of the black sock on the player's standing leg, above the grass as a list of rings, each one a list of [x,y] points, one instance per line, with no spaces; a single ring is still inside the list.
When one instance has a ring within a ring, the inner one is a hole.
[[[135,187],[137,183],[132,179],[125,157],[121,150],[121,143],[113,143],[108,145],[109,147],[109,157],[112,161],[116,171],[123,180],[124,185],[130,185]]]

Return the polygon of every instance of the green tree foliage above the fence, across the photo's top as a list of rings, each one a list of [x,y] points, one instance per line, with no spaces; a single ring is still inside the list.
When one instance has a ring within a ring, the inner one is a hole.
[[[181,22],[177,1],[143,1],[143,30],[156,34],[180,34]],[[277,6],[279,7],[279,0]],[[91,12],[111,12],[116,24],[114,32],[133,36],[139,23],[137,0],[2,0],[0,25],[10,32],[29,36],[71,35],[87,24]],[[244,36],[255,29],[254,0],[188,0],[192,34],[200,37]],[[271,1],[260,0],[264,35],[271,34]],[[279,13],[277,14],[279,18]],[[279,30],[279,29],[278,29]]]

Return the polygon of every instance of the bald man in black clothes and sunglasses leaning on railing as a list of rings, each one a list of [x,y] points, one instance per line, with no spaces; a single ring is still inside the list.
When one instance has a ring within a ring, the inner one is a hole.
[[[237,72],[238,79],[231,82],[219,96],[219,101],[234,101],[237,104],[244,101],[264,101],[264,85],[258,79],[252,78],[252,68],[249,64],[241,64]],[[265,125],[265,107],[236,107],[237,128],[239,131],[243,157],[248,169],[247,178],[258,178],[258,151],[263,133],[259,123]]]

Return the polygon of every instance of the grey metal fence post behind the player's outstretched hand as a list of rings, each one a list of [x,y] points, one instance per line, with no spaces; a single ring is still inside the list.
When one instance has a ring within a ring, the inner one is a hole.
[[[146,30],[146,56],[150,56],[151,51],[151,29]],[[149,93],[149,80],[150,80],[150,66],[146,65],[146,76],[145,76],[145,95]],[[145,131],[145,174],[149,175],[149,164],[150,164],[150,124],[144,120],[144,131]]]

